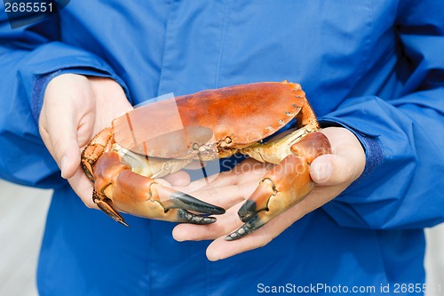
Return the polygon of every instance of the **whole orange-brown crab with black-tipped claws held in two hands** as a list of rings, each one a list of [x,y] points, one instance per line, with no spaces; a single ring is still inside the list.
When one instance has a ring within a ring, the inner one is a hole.
[[[215,222],[210,215],[223,214],[223,208],[166,187],[157,178],[196,160],[234,154],[272,167],[242,204],[242,227],[226,240],[261,228],[313,189],[310,164],[330,153],[330,144],[300,84],[240,84],[172,100],[176,118],[165,111],[165,101],[135,108],[115,118],[112,127],[83,150],[81,163],[93,183],[92,199],[114,220],[128,226],[119,213],[127,212],[173,222]],[[175,122],[182,129],[174,127]],[[293,128],[280,132],[287,124]]]

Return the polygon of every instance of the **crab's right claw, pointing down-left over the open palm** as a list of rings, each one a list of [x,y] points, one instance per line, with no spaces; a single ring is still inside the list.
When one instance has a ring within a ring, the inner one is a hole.
[[[266,173],[258,188],[242,205],[238,214],[244,224],[226,236],[226,240],[239,239],[261,228],[302,201],[313,189],[310,164],[317,156],[329,153],[329,140],[321,132],[310,132],[293,144],[290,151],[292,154]]]

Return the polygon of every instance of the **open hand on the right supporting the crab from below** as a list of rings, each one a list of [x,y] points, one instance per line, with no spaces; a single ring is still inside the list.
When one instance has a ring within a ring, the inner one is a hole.
[[[345,128],[329,127],[321,132],[329,139],[333,153],[313,160],[310,175],[316,186],[300,203],[282,212],[250,235],[239,240],[226,241],[226,235],[242,226],[237,211],[266,173],[266,164],[247,159],[239,164],[240,167],[220,173],[218,178],[208,185],[204,185],[203,180],[198,180],[186,187],[176,187],[210,204],[224,207],[226,213],[218,216],[218,221],[210,225],[196,227],[179,224],[173,229],[174,238],[178,241],[214,240],[207,249],[208,259],[225,259],[268,244],[306,213],[338,196],[353,180],[361,176],[365,166],[365,153],[360,141]]]

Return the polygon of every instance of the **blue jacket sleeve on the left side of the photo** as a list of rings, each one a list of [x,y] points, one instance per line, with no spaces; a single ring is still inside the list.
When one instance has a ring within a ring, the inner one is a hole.
[[[4,180],[40,188],[65,184],[38,132],[43,89],[36,91],[35,86],[42,77],[73,69],[119,81],[104,60],[60,43],[58,31],[55,17],[11,29],[4,9],[0,12],[0,178]]]

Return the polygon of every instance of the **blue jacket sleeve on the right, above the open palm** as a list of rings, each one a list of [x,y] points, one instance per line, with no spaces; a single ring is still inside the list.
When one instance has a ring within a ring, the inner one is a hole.
[[[400,12],[400,95],[347,100],[321,118],[366,150],[361,178],[323,209],[353,228],[424,228],[444,221],[444,5]]]

